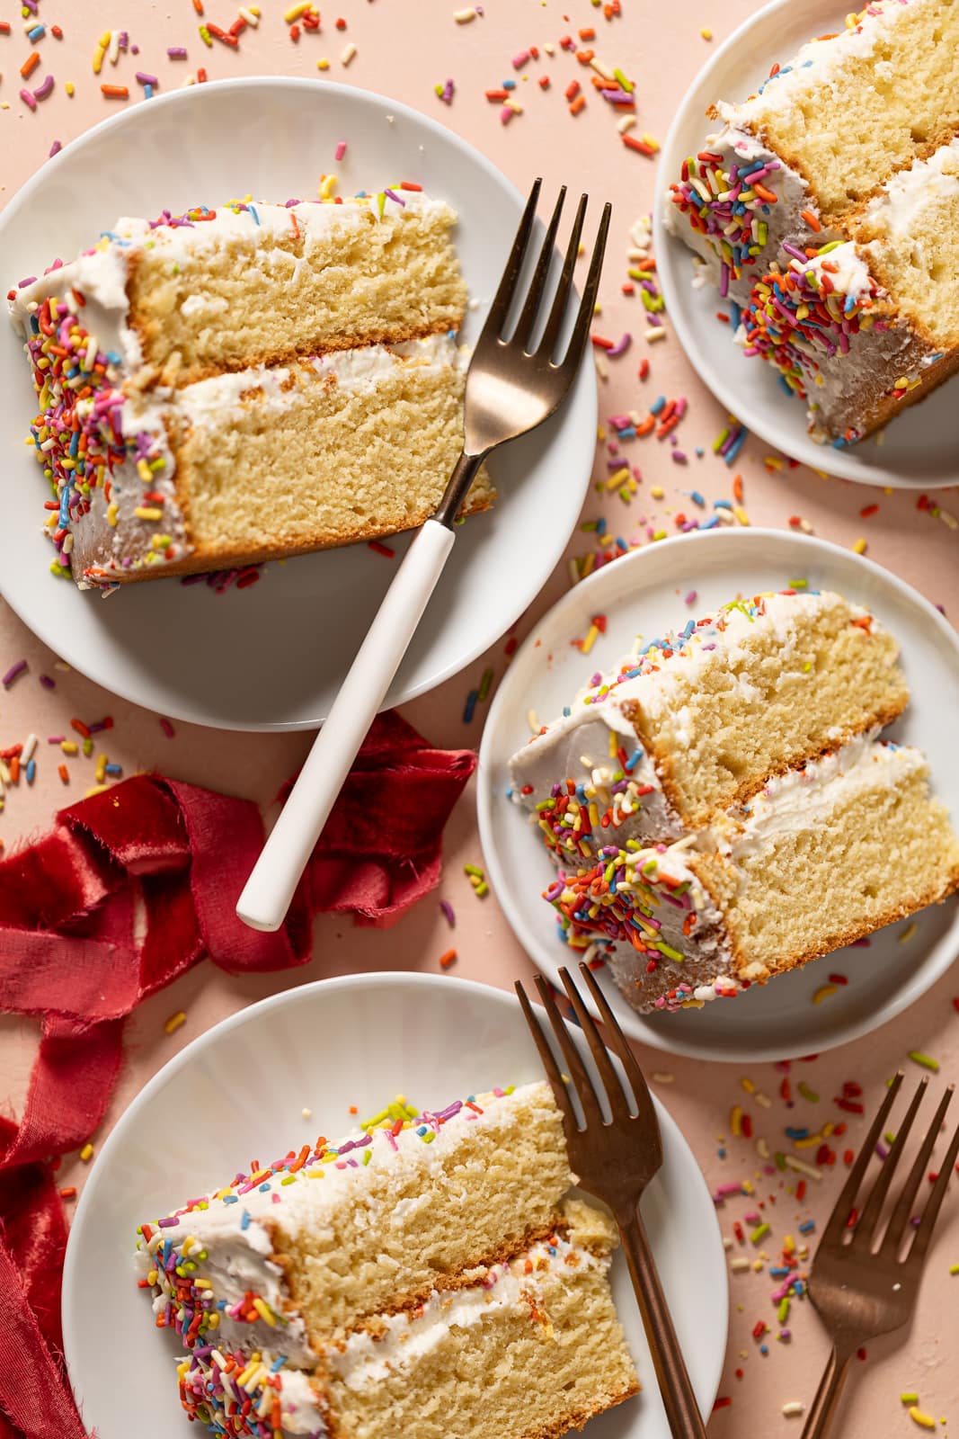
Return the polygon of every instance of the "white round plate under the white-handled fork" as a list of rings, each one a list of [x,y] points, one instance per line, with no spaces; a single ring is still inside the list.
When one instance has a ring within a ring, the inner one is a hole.
[[[336,163],[341,140],[348,150]],[[454,206],[456,246],[477,302],[463,338],[474,340],[522,197],[450,130],[405,105],[328,81],[194,85],[96,125],[45,164],[0,214],[3,291],[55,256],[69,259],[85,249],[119,214],[152,216],[167,207],[175,213],[247,193],[309,197],[318,177],[334,168],[339,194],[416,180]],[[36,399],[6,322],[0,390],[0,587],[20,619],[91,679],[161,714],[224,730],[321,724],[398,561],[359,544],[270,564],[242,591],[216,594],[206,584],[170,580],[122,589],[104,603],[96,591],[81,593],[49,574],[45,484],[23,443]],[[542,589],[579,514],[595,426],[595,378],[584,364],[559,414],[493,458],[499,502],[457,532],[385,707],[454,675]],[[407,544],[408,537],[391,541],[397,555]]]

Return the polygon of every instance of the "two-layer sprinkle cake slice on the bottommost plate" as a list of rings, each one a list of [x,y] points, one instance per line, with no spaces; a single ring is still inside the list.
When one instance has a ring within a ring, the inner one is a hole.
[[[638,1389],[546,1084],[283,1160],[139,1230],[141,1284],[214,1433],[532,1439]]]

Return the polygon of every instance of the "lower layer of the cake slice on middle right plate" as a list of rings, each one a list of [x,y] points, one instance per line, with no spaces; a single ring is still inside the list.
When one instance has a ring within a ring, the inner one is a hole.
[[[861,737],[772,780],[713,830],[610,845],[546,891],[568,944],[641,1012],[730,997],[959,888],[919,750]]]

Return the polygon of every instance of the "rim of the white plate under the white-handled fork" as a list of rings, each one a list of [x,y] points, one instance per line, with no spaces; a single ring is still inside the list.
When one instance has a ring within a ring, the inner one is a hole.
[[[338,96],[339,98],[349,96],[351,102],[355,101],[361,106],[368,108],[371,111],[377,109],[377,106],[380,108],[388,106],[391,112],[403,115],[403,118],[405,118],[407,121],[424,125],[427,131],[431,132],[434,137],[441,138],[444,144],[451,144],[453,148],[460,153],[460,155],[477,164],[486,173],[487,178],[502,186],[503,191],[509,194],[509,197],[516,206],[516,214],[519,216],[519,213],[522,212],[525,199],[520,194],[519,189],[477,147],[472,145],[467,140],[463,140],[463,137],[459,135],[456,131],[449,130],[446,125],[441,124],[441,121],[434,119],[424,111],[420,111],[413,105],[408,105],[405,101],[394,99],[390,95],[384,95],[380,91],[361,89],[359,86],[348,85],[341,81],[313,79],[312,76],[303,76],[303,75],[296,75],[296,76],[242,75],[219,81],[208,81],[201,86],[180,86],[178,89],[165,91],[160,95],[155,95],[150,101],[150,111],[147,114],[155,114],[157,106],[161,109],[167,109],[178,104],[185,104],[187,96],[190,98],[191,102],[196,104],[198,95],[210,96],[230,91],[243,92],[247,89],[257,91],[266,88],[300,89],[318,95],[332,94],[334,102],[336,101]],[[20,214],[22,210],[24,210],[29,206],[35,191],[40,187],[40,184],[46,183],[50,176],[56,176],[59,170],[63,167],[63,164],[69,163],[69,160],[72,160],[76,155],[76,151],[81,147],[85,147],[88,144],[96,144],[104,132],[112,128],[114,130],[122,128],[124,125],[129,124],[131,117],[138,117],[137,122],[142,122],[139,119],[139,115],[141,115],[141,108],[138,105],[131,106],[129,109],[118,111],[114,115],[106,115],[95,125],[91,125],[89,130],[85,130],[81,135],[76,135],[73,140],[70,140],[63,147],[63,150],[58,151],[58,154],[53,155],[52,160],[45,161],[10,197],[3,210],[0,210],[0,246],[3,245],[3,237],[6,235],[7,226],[12,223],[13,219],[16,219]],[[496,642],[502,639],[502,636],[516,623],[516,620],[523,614],[523,612],[528,610],[529,606],[535,603],[539,593],[548,584],[549,577],[556,570],[558,564],[562,561],[562,555],[566,550],[566,545],[569,544],[569,537],[575,530],[577,518],[582,509],[582,504],[585,502],[592,475],[592,459],[595,450],[594,436],[598,423],[600,396],[594,373],[591,367],[585,363],[587,360],[588,357],[584,357],[579,374],[575,377],[572,387],[564,400],[564,406],[561,407],[562,412],[562,409],[565,409],[572,401],[578,404],[585,404],[585,414],[581,426],[574,426],[572,433],[564,437],[564,446],[572,445],[572,442],[575,440],[575,435],[579,430],[582,433],[582,442],[581,442],[582,484],[579,486],[581,494],[579,494],[579,504],[577,507],[577,514],[571,519],[571,527],[562,543],[562,547],[558,548],[556,554],[549,560],[548,566],[546,566],[546,560],[549,558],[548,551],[542,553],[542,555],[539,557],[539,563],[538,563],[538,555],[539,555],[538,548],[533,551],[532,555],[528,557],[529,564],[525,567],[525,573],[528,576],[529,583],[523,586],[522,596],[519,590],[516,591],[516,600],[513,604],[510,604],[509,610],[510,619],[502,626],[502,629],[497,630],[497,633],[485,636],[477,633],[476,639],[470,645],[459,649],[456,656],[449,659],[446,665],[440,665],[439,668],[430,671],[430,673],[424,675],[416,684],[408,684],[403,688],[397,688],[397,682],[394,679],[380,707],[380,712],[397,708],[398,705],[410,704],[413,699],[418,699],[423,695],[430,694],[433,689],[437,689],[449,679],[454,679],[459,673],[462,673],[469,665],[472,665],[476,659],[479,659],[480,655],[483,655],[487,649],[490,649],[490,646],[496,645]],[[404,531],[403,534],[413,535],[414,532],[416,531]],[[338,548],[351,548],[351,547],[345,545]],[[454,564],[456,561],[453,560],[451,563]],[[27,606],[20,606],[17,599],[14,599],[9,593],[9,587],[4,586],[3,567],[0,567],[0,597],[10,606],[17,619],[27,627],[27,630],[33,636],[36,636],[36,639],[39,639],[43,645],[46,645],[50,650],[53,650],[55,655],[70,663],[73,669],[82,673],[92,684],[101,685],[101,688],[106,689],[109,694],[116,695],[119,699],[125,699],[129,704],[135,704],[147,709],[155,708],[154,699],[151,696],[144,696],[135,681],[132,684],[127,684],[125,666],[119,669],[115,665],[114,671],[116,672],[108,669],[109,679],[105,679],[102,671],[96,663],[95,649],[92,650],[92,663],[91,659],[86,656],[83,658],[83,663],[76,663],[76,658],[73,655],[65,655],[62,649],[63,637],[66,636],[69,640],[70,626],[63,625],[62,620],[55,619],[53,614],[50,614],[49,620],[45,620],[43,617],[37,620],[36,617],[26,613]],[[175,699],[175,704],[167,704],[168,699]],[[257,724],[252,724],[249,720],[244,720],[243,722],[234,721],[229,715],[217,715],[216,718],[210,718],[208,714],[203,712],[206,708],[203,702],[200,702],[200,707],[197,708],[197,701],[190,699],[188,694],[185,692],[177,692],[175,696],[173,694],[164,695],[162,701],[164,701],[162,714],[168,715],[173,720],[178,720],[180,722],[184,724],[201,725],[210,730],[226,730],[236,734],[288,734],[298,731],[309,732],[325,724],[328,718],[326,714],[326,715],[313,715],[305,720],[260,721]]]

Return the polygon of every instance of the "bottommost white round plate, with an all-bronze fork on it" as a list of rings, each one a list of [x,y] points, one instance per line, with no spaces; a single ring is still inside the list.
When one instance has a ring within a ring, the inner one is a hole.
[[[322,1043],[318,1036],[322,1035]],[[581,1033],[575,1035],[592,1065]],[[237,1063],[237,1056],[242,1062]],[[618,1063],[618,1061],[617,1061]],[[542,1078],[512,994],[436,974],[358,974],[305,984],[201,1035],[155,1075],[116,1124],[86,1181],[63,1268],[63,1340],[85,1425],[99,1439],[185,1439],[175,1335],[158,1334],[137,1288],[137,1225],[208,1190],[250,1154],[355,1128],[395,1094],[440,1108],[457,1095]],[[312,1109],[302,1118],[303,1107]],[[656,1262],[709,1413],[726,1351],[726,1262],[696,1160],[657,1102],[664,1163],[643,1197]],[[196,1124],[184,1122],[197,1115]],[[203,1143],[197,1143],[201,1134]],[[592,1439],[669,1439],[625,1259],[615,1304],[644,1393],[589,1425]],[[91,1324],[91,1294],[109,1344]],[[134,1377],[135,1376],[135,1380]]]

